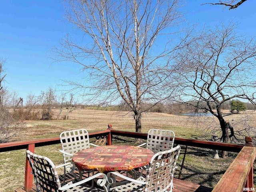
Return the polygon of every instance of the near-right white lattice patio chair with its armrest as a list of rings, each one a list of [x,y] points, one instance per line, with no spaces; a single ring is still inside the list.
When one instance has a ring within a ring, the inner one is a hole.
[[[140,176],[137,179],[132,179],[118,172],[111,172],[111,174],[127,180],[128,183],[110,190],[116,192],[164,192],[170,188],[170,192],[172,192],[174,170],[179,154],[180,146],[156,153],[149,162],[145,178]]]

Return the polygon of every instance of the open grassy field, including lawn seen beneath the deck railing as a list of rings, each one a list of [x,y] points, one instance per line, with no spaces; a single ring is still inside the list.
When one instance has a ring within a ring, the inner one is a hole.
[[[56,110],[58,114],[58,110]],[[66,114],[63,111],[63,114]],[[236,126],[247,114],[228,116],[226,119]],[[256,114],[250,114],[248,123],[255,125]],[[211,116],[188,118],[187,116],[175,116],[162,113],[143,114],[142,132],[148,132],[150,128],[173,130],[178,137],[200,139],[206,136],[211,138],[211,130],[217,124]],[[74,110],[69,114],[68,120],[52,121],[27,121],[26,126],[15,140],[30,140],[40,138],[58,137],[64,130],[85,128],[88,132],[105,130],[108,124],[112,124],[115,130],[135,131],[135,122],[132,113],[110,111],[110,110]],[[212,125],[209,127],[209,125]],[[208,134],[205,134],[208,128]],[[235,126],[234,126],[235,128]],[[219,134],[220,136],[220,134]],[[58,165],[62,164],[62,154],[58,152],[60,145],[36,148],[36,153],[48,156]],[[222,174],[228,168],[236,154],[228,159],[215,160],[212,158],[211,150],[200,150],[189,148],[185,159],[182,179],[208,187],[214,187]],[[180,156],[182,160],[183,153]],[[0,192],[13,192],[16,188],[24,185],[25,150],[0,153]]]

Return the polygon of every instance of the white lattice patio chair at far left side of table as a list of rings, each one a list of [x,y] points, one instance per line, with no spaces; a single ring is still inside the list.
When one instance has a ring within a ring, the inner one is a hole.
[[[89,134],[86,129],[78,129],[78,130],[71,130],[71,131],[64,131],[60,134],[60,143],[64,159],[64,164],[66,165],[66,168],[64,169],[64,179],[63,184],[65,183],[66,178],[66,172],[71,173],[74,178],[76,178],[76,175],[74,174],[74,170],[76,169],[76,166],[72,162],[72,156],[74,153],[88,149],[90,146],[97,146],[95,144],[90,143],[89,140]],[[92,171],[79,171],[80,177],[79,179],[82,179],[82,174],[88,173],[88,176]]]

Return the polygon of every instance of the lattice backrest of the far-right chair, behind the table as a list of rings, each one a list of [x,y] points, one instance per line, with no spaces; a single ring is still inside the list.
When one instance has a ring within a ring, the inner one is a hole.
[[[173,148],[175,134],[170,130],[150,129],[147,148],[154,153]]]

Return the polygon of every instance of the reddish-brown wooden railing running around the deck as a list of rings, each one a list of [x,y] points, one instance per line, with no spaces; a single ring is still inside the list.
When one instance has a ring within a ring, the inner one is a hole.
[[[113,136],[126,136],[131,138],[147,138],[147,133],[127,132],[113,130],[112,126],[109,125],[108,129],[100,132],[89,133],[90,138],[106,136],[107,145],[112,145]],[[214,141],[203,141],[176,137],[174,140],[175,144],[194,146],[200,148],[208,148],[214,150],[225,150],[229,152],[239,152],[238,156],[234,159],[228,170],[224,173],[220,181],[216,184],[213,192],[241,192],[254,190],[253,188],[253,162],[256,156],[256,148],[252,146],[251,139],[246,138],[246,145],[214,142]],[[6,152],[11,150],[28,149],[34,152],[35,147],[47,146],[52,144],[60,144],[60,138],[48,138],[40,140],[30,141],[19,141],[9,142],[0,144],[0,152]],[[32,169],[29,166],[28,160],[26,159],[25,167],[25,182],[24,190],[28,191],[32,189],[33,175],[30,174]]]

